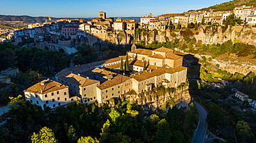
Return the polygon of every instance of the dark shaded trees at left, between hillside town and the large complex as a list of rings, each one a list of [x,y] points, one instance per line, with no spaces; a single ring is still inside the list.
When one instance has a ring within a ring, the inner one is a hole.
[[[19,67],[22,72],[36,70],[46,75],[60,71],[70,63],[68,58],[64,58],[64,52],[19,47],[12,43],[0,44],[0,56],[0,70]]]

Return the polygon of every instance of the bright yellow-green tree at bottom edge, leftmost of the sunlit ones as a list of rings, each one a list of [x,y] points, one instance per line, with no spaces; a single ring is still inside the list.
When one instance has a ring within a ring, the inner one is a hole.
[[[57,142],[55,135],[52,129],[49,129],[47,126],[44,126],[39,133],[33,133],[31,136],[31,141],[33,143],[42,142],[42,143],[53,143]]]

